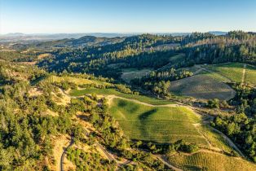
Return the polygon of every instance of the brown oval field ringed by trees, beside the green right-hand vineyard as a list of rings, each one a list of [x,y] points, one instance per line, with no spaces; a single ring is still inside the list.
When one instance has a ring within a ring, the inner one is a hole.
[[[235,96],[235,91],[221,81],[204,75],[187,77],[170,83],[170,91],[174,94],[192,96],[196,99],[228,100]]]

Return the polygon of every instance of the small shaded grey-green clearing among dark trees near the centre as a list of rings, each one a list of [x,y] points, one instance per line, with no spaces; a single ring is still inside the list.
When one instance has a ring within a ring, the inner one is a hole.
[[[152,69],[123,69],[123,72],[121,74],[121,79],[126,82],[130,82],[131,80],[135,78],[141,78],[143,76],[148,75],[149,72],[151,72]]]

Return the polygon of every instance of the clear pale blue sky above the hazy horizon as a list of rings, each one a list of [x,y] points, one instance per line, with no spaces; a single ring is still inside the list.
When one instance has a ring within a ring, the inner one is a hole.
[[[256,0],[0,0],[0,33],[256,32]]]

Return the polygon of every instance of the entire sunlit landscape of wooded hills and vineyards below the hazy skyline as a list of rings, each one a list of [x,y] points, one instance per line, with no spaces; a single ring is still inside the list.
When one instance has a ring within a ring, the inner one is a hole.
[[[256,168],[255,33],[1,48],[0,170]]]

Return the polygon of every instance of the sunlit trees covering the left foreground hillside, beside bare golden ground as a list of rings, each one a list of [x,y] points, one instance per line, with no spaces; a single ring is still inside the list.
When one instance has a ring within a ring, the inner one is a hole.
[[[9,69],[3,65],[2,71]],[[18,68],[15,68],[17,71]],[[90,111],[88,99],[72,102],[68,106],[57,105],[53,100],[53,92],[58,88],[50,83],[38,83],[42,94],[31,95],[29,84],[32,77],[40,77],[42,72],[37,68],[20,68],[20,74],[29,75],[29,80],[15,80],[11,75],[1,72],[0,87],[0,170],[48,170],[49,164],[55,164],[51,142],[52,136],[69,134],[75,140],[82,137],[82,129],[73,123],[72,116],[77,111]],[[8,84],[7,81],[8,80]],[[56,116],[47,114],[55,112]],[[46,164],[46,157],[49,163]]]

